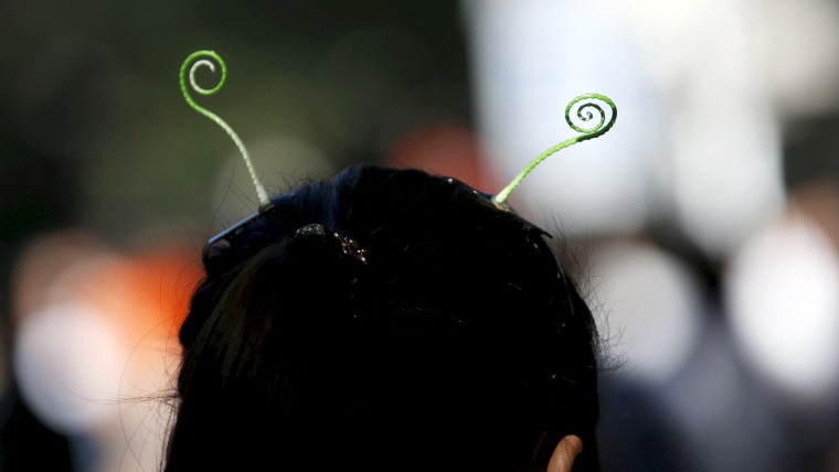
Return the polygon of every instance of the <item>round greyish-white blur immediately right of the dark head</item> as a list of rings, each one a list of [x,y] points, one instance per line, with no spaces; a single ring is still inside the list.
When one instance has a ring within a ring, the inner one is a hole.
[[[675,257],[651,246],[619,243],[596,256],[603,277],[593,305],[607,301],[601,335],[610,354],[640,380],[660,384],[677,374],[701,331],[697,281]]]

